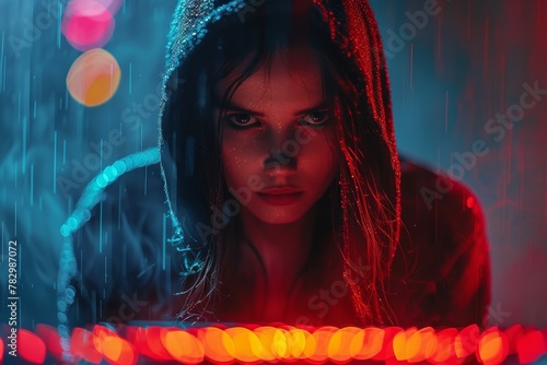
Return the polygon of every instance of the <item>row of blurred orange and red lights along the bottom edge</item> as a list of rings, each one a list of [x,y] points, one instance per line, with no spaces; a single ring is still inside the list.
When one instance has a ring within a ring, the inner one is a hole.
[[[58,332],[38,325],[36,334],[18,331],[18,355],[42,364],[48,355],[60,360],[62,350]],[[5,338],[5,345],[10,339]],[[2,344],[2,340],[0,340]],[[2,348],[4,348],[2,345]],[[0,352],[0,361],[7,358]],[[104,326],[86,330],[75,328],[70,337],[74,362],[92,364],[136,364],[141,360],[214,364],[293,362],[348,363],[351,360],[429,362],[455,364],[474,356],[482,364],[501,364],[515,355],[521,364],[536,362],[547,355],[547,330],[513,326],[496,327],[480,332],[477,326],[462,330],[447,328],[296,328],[296,327],[203,327],[164,328],[159,326],[121,327],[114,331]]]

